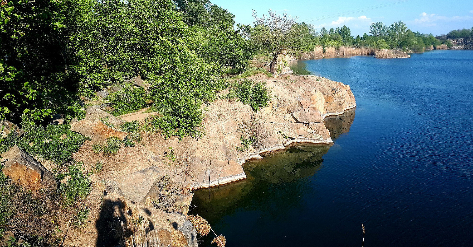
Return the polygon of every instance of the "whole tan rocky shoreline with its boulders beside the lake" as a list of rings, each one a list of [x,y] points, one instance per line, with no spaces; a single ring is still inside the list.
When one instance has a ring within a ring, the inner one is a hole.
[[[122,145],[114,155],[96,152],[95,147],[104,145],[111,137],[123,141],[131,133],[120,130],[120,125],[133,120],[142,122],[157,113],[143,109],[114,117],[101,109],[100,101],[85,99],[84,103],[88,104],[86,117],[71,121],[70,130],[89,138],[73,154],[73,159],[85,172],[92,174],[92,192],[86,201],[91,212],[96,212],[91,213],[89,221],[96,223],[83,230],[71,229],[63,244],[86,247],[113,242],[117,238],[106,234],[110,230],[107,222],[114,221],[114,217],[131,217],[130,223],[136,220],[133,220],[136,215],[147,215],[147,222],[152,222],[155,227],[150,234],[156,236],[160,243],[157,246],[181,241],[183,246],[196,247],[195,229],[185,218],[191,207],[192,191],[246,179],[242,164],[262,159],[266,153],[298,143],[333,144],[324,118],[356,107],[350,86],[323,77],[293,76],[289,70],[287,72],[281,73],[285,78],[280,75],[266,77],[264,74],[248,78],[264,82],[270,88],[272,100],[260,111],[221,97],[223,99],[202,105],[205,109],[202,138],[165,139],[158,132],[143,132],[139,143]],[[228,91],[218,92],[218,96],[225,94]],[[7,126],[7,123],[3,125]],[[15,128],[12,125],[4,131]],[[243,144],[245,138],[252,136],[258,138],[259,146]],[[14,147],[9,153],[11,157],[7,158],[21,162],[7,165],[37,167],[36,170],[44,174],[54,169],[48,162],[40,163],[29,155],[28,159],[12,159],[16,154],[27,155]],[[102,168],[97,172],[95,167],[99,163]],[[39,188],[43,184],[38,180],[31,186]],[[158,219],[154,219],[155,216]],[[67,227],[66,222],[63,222],[64,227]],[[169,222],[177,222],[177,229]],[[95,231],[104,234],[87,233]]]

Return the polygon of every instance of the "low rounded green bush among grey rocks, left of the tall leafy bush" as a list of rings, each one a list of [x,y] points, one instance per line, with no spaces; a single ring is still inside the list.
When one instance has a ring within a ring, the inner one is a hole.
[[[122,91],[109,94],[105,99],[114,108],[114,116],[141,110],[146,104],[146,94],[142,87],[123,86]]]

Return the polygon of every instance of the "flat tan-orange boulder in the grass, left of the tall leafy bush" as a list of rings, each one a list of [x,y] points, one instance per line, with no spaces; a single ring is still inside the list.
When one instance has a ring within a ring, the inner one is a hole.
[[[77,132],[82,136],[88,136],[96,143],[103,143],[106,139],[112,136],[123,141],[123,139],[128,135],[126,132],[108,127],[100,119],[95,119],[94,121],[82,119],[79,122],[72,123],[70,130]]]

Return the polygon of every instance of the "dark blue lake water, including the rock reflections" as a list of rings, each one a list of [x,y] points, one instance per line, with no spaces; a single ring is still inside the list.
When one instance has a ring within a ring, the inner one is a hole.
[[[360,247],[361,223],[365,247],[473,246],[473,51],[292,68],[351,86],[357,108],[326,119],[335,144],[247,163],[248,179],[196,191],[191,213],[227,247]]]

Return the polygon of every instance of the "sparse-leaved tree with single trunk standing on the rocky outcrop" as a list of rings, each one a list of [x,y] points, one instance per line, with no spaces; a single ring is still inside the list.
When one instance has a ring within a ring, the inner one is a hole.
[[[270,73],[274,73],[276,62],[280,54],[291,54],[298,50],[300,35],[296,20],[286,12],[283,15],[269,10],[269,16],[257,17],[253,10],[254,28],[250,39],[260,49],[268,51],[272,55]]]

